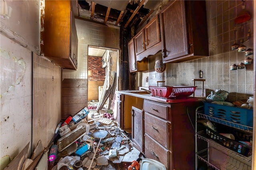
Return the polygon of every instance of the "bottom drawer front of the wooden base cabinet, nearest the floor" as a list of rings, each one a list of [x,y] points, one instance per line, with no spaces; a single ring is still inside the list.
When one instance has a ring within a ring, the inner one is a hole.
[[[166,168],[169,168],[169,164],[171,161],[171,154],[157,143],[152,137],[145,133],[145,155],[147,158],[157,160],[164,164]]]

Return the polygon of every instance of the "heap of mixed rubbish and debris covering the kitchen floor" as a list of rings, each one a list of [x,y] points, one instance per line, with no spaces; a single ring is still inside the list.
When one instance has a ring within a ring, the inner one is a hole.
[[[97,113],[85,107],[72,119],[69,116],[60,122],[56,133],[59,137],[49,154],[54,164],[49,170],[127,170],[142,156],[129,135],[118,127],[111,109]]]

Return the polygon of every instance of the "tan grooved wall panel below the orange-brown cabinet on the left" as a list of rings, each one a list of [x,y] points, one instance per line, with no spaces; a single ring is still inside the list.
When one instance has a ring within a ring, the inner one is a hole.
[[[61,115],[61,68],[33,55],[33,149],[47,147]]]

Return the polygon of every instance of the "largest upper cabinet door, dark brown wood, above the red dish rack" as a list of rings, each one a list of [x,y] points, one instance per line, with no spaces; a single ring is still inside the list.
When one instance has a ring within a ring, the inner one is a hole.
[[[184,1],[176,0],[160,12],[163,61],[188,55]]]

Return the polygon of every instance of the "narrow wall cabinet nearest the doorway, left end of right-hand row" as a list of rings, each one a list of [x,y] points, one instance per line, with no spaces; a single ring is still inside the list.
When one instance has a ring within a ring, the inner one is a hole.
[[[129,68],[130,72],[145,71],[148,70],[148,60],[143,61],[136,60],[134,38],[128,42],[128,54],[129,54]]]

